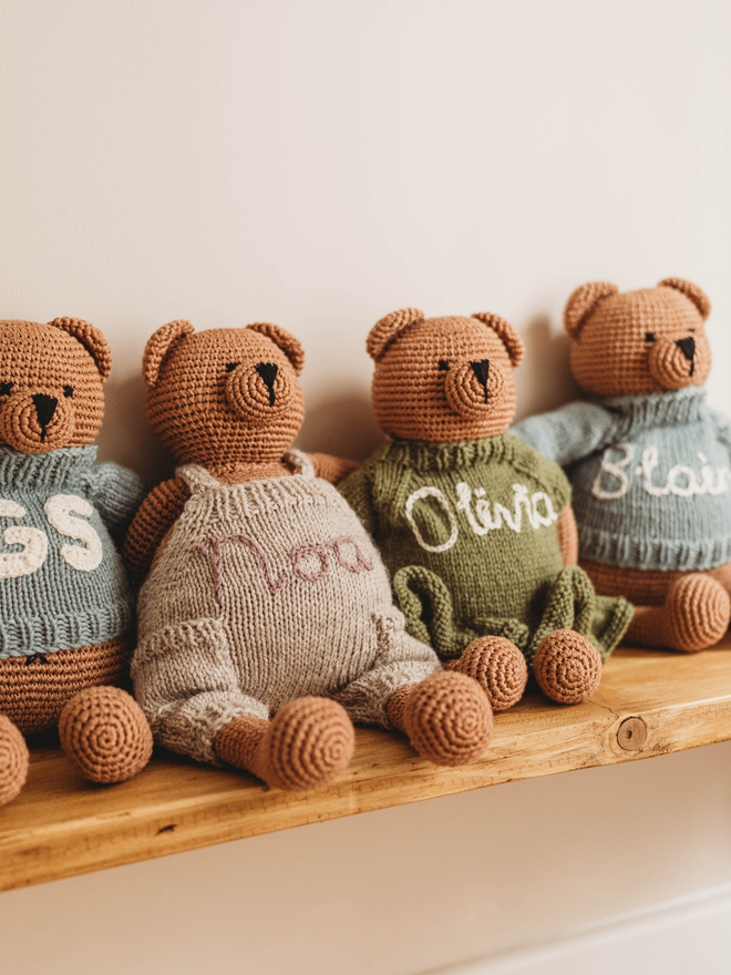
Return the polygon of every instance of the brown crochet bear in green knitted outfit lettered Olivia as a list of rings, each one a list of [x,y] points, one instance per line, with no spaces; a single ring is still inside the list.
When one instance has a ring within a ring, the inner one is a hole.
[[[367,348],[392,440],[340,490],[381,551],[409,632],[476,677],[494,710],[523,695],[526,660],[548,697],[580,701],[631,608],[595,598],[573,564],[562,469],[506,433],[521,339],[497,315],[406,308],[381,319]]]

